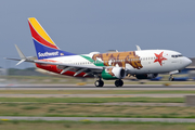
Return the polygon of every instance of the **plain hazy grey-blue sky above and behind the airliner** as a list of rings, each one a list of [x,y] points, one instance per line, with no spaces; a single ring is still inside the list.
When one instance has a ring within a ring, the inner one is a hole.
[[[0,4],[0,66],[31,67],[3,57],[36,55],[27,18],[36,17],[62,50],[167,49],[195,57],[194,0],[3,0]]]

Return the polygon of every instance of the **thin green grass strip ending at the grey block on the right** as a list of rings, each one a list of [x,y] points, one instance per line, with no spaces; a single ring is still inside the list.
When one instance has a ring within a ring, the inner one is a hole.
[[[31,103],[184,103],[184,98],[0,98],[0,102],[31,102]]]

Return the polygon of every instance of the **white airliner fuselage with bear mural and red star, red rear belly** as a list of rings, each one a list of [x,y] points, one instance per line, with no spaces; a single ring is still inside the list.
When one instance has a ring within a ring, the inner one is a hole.
[[[109,52],[90,54],[60,56],[48,58],[50,62],[60,62],[70,65],[102,66],[102,67],[122,67],[132,75],[142,74],[161,74],[173,70],[181,70],[188,66],[192,61],[183,56],[181,53],[170,50],[141,50],[128,52]],[[37,67],[61,74],[63,68],[57,65],[37,64]],[[74,76],[77,69],[73,68],[63,75]],[[83,77],[84,73],[78,74],[76,77]]]

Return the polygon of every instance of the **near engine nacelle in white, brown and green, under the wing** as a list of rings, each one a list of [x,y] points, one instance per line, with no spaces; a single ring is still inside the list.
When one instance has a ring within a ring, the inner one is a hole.
[[[126,70],[121,67],[107,67],[102,72],[103,79],[122,79],[126,77]]]

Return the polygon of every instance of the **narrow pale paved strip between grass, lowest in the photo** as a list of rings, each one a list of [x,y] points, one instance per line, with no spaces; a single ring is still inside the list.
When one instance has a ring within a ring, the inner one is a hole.
[[[186,118],[109,118],[109,117],[13,117],[0,116],[1,120],[72,120],[72,121],[143,121],[143,122],[195,122]]]

